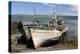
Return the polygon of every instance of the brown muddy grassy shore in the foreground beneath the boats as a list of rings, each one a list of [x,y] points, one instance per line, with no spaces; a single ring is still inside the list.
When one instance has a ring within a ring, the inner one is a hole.
[[[64,42],[58,41],[47,41],[46,45],[43,45],[37,49],[27,47],[27,44],[18,44],[16,41],[12,42],[12,52],[34,52],[34,51],[52,51],[52,50],[67,50],[67,49],[77,49],[78,41],[75,36],[70,40],[65,39]]]

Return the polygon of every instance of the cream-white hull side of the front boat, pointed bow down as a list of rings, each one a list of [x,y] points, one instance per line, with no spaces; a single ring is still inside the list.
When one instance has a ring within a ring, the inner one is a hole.
[[[48,39],[55,40],[55,38],[59,38],[61,35],[62,33],[58,30],[31,29],[31,36],[32,36],[32,40],[35,48],[40,47],[40,45],[46,40]]]

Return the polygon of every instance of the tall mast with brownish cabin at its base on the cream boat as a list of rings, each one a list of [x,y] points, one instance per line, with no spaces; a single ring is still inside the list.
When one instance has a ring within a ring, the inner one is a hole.
[[[50,21],[49,21],[49,28],[56,29],[57,28],[56,8],[54,7],[51,12],[52,13],[51,13]]]

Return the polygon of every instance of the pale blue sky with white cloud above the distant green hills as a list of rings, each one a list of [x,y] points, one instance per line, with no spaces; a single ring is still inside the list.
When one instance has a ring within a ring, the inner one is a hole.
[[[56,10],[57,15],[78,15],[78,7],[68,4],[32,3],[32,2],[11,2],[11,14],[33,15],[33,8],[37,15],[50,15]]]

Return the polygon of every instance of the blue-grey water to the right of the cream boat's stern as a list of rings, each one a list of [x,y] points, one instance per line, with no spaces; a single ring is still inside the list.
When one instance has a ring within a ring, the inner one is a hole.
[[[78,35],[78,22],[77,22],[77,20],[66,20],[65,24],[69,28],[69,31],[67,32],[68,36],[77,36]]]

